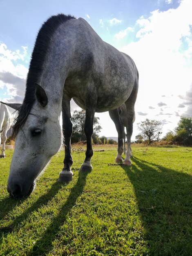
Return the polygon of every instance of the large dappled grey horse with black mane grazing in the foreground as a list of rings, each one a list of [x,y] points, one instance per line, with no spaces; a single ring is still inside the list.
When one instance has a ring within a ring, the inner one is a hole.
[[[71,98],[86,111],[87,150],[80,171],[91,171],[92,133],[95,112],[127,108],[127,152],[133,129],[134,103],[138,91],[138,71],[132,58],[103,42],[83,18],[59,14],[41,27],[33,49],[27,75],[25,98],[13,125],[15,139],[7,190],[10,195],[29,195],[40,172],[62,144],[60,113],[63,117],[65,158],[59,181],[72,179]],[[11,106],[11,104],[9,104]],[[122,125],[119,137],[122,137]],[[121,127],[120,127],[121,126]],[[122,141],[118,148],[121,149]],[[123,151],[122,151],[123,152]],[[118,150],[118,157],[121,150]]]

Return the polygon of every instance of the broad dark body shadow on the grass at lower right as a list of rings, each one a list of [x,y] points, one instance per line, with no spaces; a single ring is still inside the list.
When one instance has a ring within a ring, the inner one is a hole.
[[[149,255],[191,255],[192,176],[136,157],[122,168],[134,186]]]

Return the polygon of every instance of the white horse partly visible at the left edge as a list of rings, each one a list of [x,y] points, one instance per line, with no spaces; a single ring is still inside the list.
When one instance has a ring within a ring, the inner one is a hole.
[[[7,140],[7,131],[11,126],[10,122],[10,112],[4,104],[0,103],[0,144],[2,142],[2,150],[0,158],[4,158],[5,142]]]

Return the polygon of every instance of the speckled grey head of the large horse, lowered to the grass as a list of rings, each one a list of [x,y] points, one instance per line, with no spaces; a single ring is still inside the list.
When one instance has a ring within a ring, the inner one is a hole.
[[[7,191],[14,197],[30,195],[36,178],[61,146],[59,107],[49,102],[39,85],[36,85],[35,95],[36,101],[15,138],[7,183]]]

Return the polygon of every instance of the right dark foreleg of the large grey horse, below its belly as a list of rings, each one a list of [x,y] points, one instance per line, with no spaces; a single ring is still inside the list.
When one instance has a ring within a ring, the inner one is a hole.
[[[85,126],[84,131],[87,139],[87,150],[86,150],[86,157],[85,161],[81,165],[79,171],[91,171],[91,158],[93,155],[92,149],[92,134],[93,134],[93,123],[94,123],[94,115],[95,112],[93,110],[86,110],[86,117],[85,117]]]

